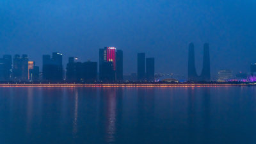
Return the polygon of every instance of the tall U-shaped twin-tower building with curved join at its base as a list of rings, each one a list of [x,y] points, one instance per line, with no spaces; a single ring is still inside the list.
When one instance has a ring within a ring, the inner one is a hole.
[[[211,81],[209,44],[204,44],[204,60],[201,75],[196,73],[194,44],[189,44],[188,81]]]

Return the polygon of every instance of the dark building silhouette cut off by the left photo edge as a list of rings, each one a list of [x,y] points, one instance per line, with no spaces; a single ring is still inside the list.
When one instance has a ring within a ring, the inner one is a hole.
[[[10,81],[12,78],[12,56],[0,58],[0,81]]]

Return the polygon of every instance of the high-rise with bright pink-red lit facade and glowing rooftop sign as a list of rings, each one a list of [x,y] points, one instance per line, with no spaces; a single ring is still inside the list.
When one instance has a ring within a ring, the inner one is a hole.
[[[116,48],[104,47],[99,50],[99,79],[103,82],[115,81]]]

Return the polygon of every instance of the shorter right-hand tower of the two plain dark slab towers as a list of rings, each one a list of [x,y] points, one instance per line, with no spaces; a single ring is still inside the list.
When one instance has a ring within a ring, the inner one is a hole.
[[[155,59],[147,58],[146,59],[146,76],[147,81],[153,82],[155,78]]]

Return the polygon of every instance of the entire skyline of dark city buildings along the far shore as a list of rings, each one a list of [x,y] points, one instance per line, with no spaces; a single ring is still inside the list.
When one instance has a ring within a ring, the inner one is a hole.
[[[194,44],[188,47],[188,81],[211,81],[209,44],[204,44],[203,68],[200,75],[195,68]],[[154,58],[146,58],[145,53],[138,53],[137,73],[127,77],[123,74],[123,51],[116,47],[99,49],[99,66],[93,61],[78,61],[77,57],[69,57],[66,68],[63,67],[63,55],[52,52],[43,55],[42,71],[29,61],[28,55],[4,55],[0,58],[0,81],[20,82],[52,82],[52,83],[122,83],[132,82],[177,82],[173,74],[155,74]],[[98,71],[99,68],[99,71]],[[239,72],[234,75],[232,70],[218,71],[216,81],[256,81],[256,63],[250,65],[251,72]]]

